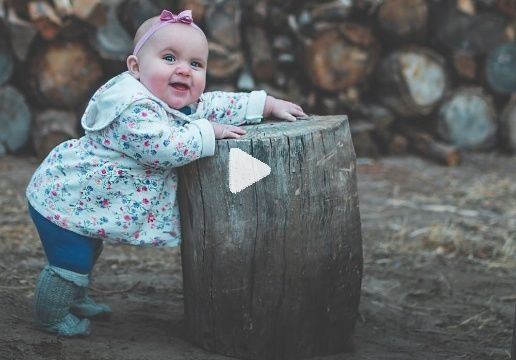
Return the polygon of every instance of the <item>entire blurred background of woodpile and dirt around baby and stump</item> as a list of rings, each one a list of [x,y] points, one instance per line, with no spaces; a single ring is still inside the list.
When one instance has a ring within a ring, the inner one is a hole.
[[[229,359],[185,338],[179,249],[106,247],[92,292],[116,313],[90,340],[32,326],[46,260],[26,184],[164,8],[206,32],[208,90],[348,116],[364,277],[345,358],[509,360],[515,0],[0,0],[0,359]]]

